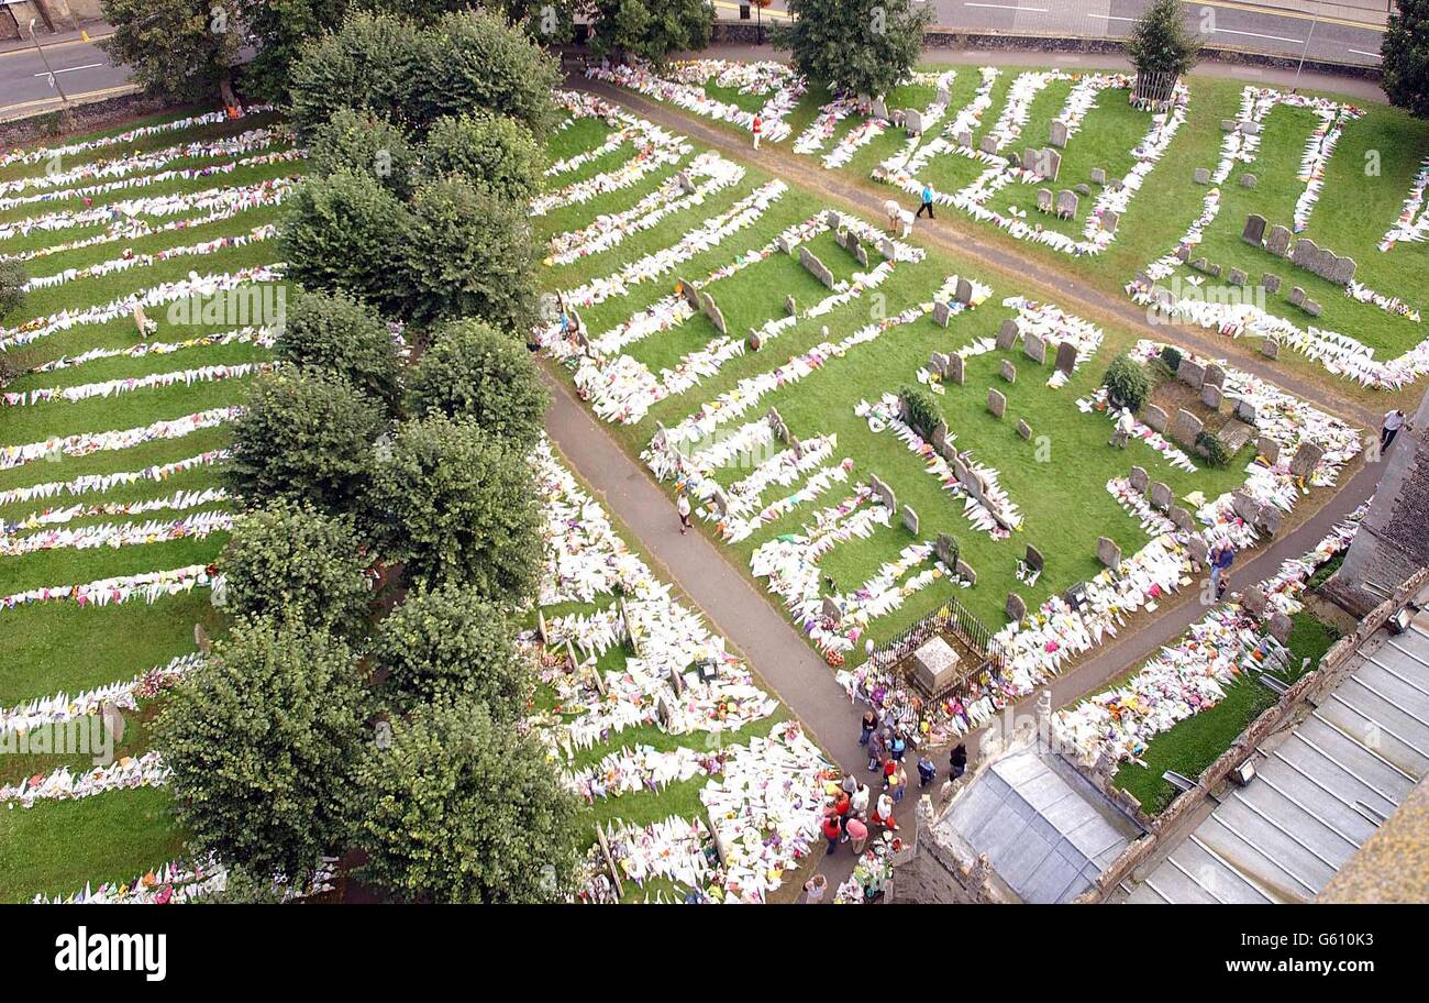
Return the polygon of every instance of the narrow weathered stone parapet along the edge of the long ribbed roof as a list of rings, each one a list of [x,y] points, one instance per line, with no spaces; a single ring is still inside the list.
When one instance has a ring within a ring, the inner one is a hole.
[[[1350,657],[1375,634],[1376,630],[1385,626],[1385,622],[1389,620],[1390,616],[1398,613],[1415,593],[1423,589],[1426,583],[1429,583],[1429,567],[1422,567],[1413,574],[1413,577],[1399,586],[1390,599],[1386,599],[1383,603],[1376,606],[1375,610],[1360,622],[1353,634],[1346,634],[1335,642],[1330,650],[1325,653],[1320,664],[1305,673],[1305,676],[1302,676],[1290,689],[1285,692],[1275,706],[1268,707],[1259,717],[1250,722],[1245,732],[1236,736],[1236,740],[1230,743],[1230,747],[1202,772],[1200,782],[1196,784],[1196,789],[1179,794],[1165,812],[1156,816],[1156,819],[1150,823],[1150,833],[1126,847],[1122,852],[1122,856],[1112,862],[1110,867],[1102,872],[1102,874],[1096,879],[1096,884],[1087,889],[1077,899],[1077,903],[1106,902],[1112,890],[1152,856],[1157,843],[1167,833],[1173,832],[1177,824],[1180,824],[1185,819],[1189,819],[1196,809],[1205,804],[1206,799],[1210,796],[1210,790],[1220,784],[1236,766],[1243,763],[1252,749],[1265,742],[1273,732],[1289,723],[1290,717],[1300,710],[1302,704],[1306,702],[1318,703],[1319,700],[1323,700],[1326,693],[1345,682],[1345,677],[1349,674],[1346,670],[1349,667]]]

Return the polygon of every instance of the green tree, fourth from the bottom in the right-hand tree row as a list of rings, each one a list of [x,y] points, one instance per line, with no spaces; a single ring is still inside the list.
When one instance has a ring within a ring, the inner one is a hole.
[[[409,381],[416,414],[470,419],[512,447],[530,450],[550,394],[526,346],[479,320],[439,327]]]

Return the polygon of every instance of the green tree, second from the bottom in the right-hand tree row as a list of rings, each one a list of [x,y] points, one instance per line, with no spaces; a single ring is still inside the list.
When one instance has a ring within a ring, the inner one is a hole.
[[[409,592],[379,626],[373,663],[402,707],[472,697],[503,724],[526,710],[534,686],[502,607],[456,584]]]

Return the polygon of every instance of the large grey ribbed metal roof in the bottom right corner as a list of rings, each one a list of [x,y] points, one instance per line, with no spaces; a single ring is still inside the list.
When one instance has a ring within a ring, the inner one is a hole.
[[[1309,902],[1429,773],[1429,613],[1362,659],[1126,897]]]

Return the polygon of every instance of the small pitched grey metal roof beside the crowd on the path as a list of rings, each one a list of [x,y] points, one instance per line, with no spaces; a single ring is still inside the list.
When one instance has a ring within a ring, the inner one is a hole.
[[[1033,750],[993,763],[936,827],[986,853],[1023,902],[1070,902],[1139,834],[1095,787]]]

